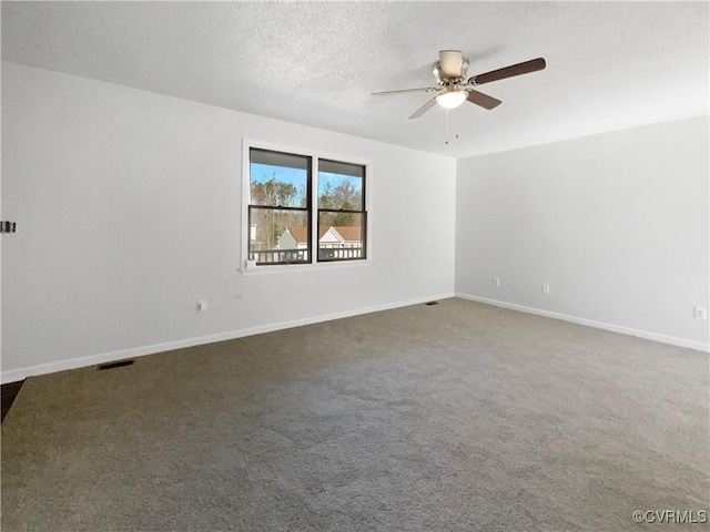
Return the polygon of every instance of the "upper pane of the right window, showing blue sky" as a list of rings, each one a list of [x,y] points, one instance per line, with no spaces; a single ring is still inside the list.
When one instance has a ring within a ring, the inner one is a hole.
[[[364,211],[365,166],[318,161],[318,208]]]

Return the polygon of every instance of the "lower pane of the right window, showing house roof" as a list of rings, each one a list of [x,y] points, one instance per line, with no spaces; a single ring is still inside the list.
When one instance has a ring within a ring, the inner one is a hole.
[[[318,260],[365,258],[365,216],[318,212]]]

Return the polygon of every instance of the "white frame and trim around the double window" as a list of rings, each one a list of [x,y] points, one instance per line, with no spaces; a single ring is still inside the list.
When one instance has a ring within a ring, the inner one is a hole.
[[[251,183],[251,157],[250,150],[270,150],[273,152],[283,152],[293,155],[304,155],[312,157],[312,172],[311,176],[311,231],[314,249],[311,249],[310,254],[312,262],[310,264],[264,264],[257,266],[255,263],[248,260],[248,238],[247,233],[251,231],[248,226],[248,202],[251,196],[250,183]],[[318,262],[318,161],[325,158],[328,161],[337,161],[348,164],[357,164],[365,166],[365,212],[367,213],[367,223],[365,224],[365,242],[367,243],[365,258],[357,258],[353,260],[331,260]],[[320,150],[312,150],[306,147],[298,147],[292,145],[276,144],[273,142],[264,142],[253,139],[243,139],[242,141],[242,225],[240,228],[240,272],[242,275],[258,275],[258,274],[276,274],[287,272],[311,272],[318,269],[338,269],[338,268],[356,268],[363,266],[369,266],[372,264],[373,256],[373,239],[372,239],[372,191],[373,191],[373,162],[361,157],[353,157],[349,155],[336,154],[331,152],[322,152]]]

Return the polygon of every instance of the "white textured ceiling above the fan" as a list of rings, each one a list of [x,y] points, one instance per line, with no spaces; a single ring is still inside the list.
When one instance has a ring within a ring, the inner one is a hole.
[[[708,2],[2,2],[2,59],[454,157],[708,114]],[[503,100],[407,120],[442,49]],[[456,139],[458,135],[458,139]]]

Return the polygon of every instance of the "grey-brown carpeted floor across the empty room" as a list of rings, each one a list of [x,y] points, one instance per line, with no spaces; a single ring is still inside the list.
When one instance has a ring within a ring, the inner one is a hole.
[[[447,299],[29,378],[2,531],[661,530],[708,403],[707,354]]]

